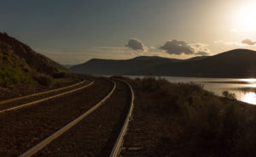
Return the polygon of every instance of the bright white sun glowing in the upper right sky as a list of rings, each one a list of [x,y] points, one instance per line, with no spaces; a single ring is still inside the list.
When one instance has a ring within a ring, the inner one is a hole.
[[[235,10],[235,22],[234,25],[241,31],[256,31],[256,3],[244,3],[241,4]]]

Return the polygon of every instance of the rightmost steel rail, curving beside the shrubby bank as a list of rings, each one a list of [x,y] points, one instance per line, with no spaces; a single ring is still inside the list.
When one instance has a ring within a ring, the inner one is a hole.
[[[116,80],[123,81],[123,80],[120,80],[120,79],[116,79]],[[113,146],[111,154],[109,155],[110,157],[116,157],[120,153],[120,149],[121,149],[121,146],[123,144],[125,133],[127,132],[127,129],[128,129],[129,121],[131,120],[131,113],[132,113],[132,109],[133,109],[133,106],[134,106],[134,104],[133,104],[133,101],[134,101],[133,89],[127,81],[123,81],[123,82],[125,82],[125,84],[130,88],[130,91],[131,91],[131,105],[130,105],[129,113],[126,116],[125,123],[122,127],[121,132],[119,133],[119,137],[117,138],[117,141]]]

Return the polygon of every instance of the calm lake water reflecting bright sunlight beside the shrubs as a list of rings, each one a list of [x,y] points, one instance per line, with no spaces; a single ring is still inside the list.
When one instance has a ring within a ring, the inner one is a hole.
[[[130,76],[131,78],[142,76]],[[171,82],[195,82],[203,84],[204,88],[215,94],[222,95],[224,91],[236,94],[236,99],[256,104],[256,79],[233,79],[233,78],[196,78],[196,77],[172,77],[161,76]]]

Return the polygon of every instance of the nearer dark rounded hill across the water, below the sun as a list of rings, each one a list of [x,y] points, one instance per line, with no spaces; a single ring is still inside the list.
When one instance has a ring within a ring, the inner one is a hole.
[[[206,59],[160,64],[148,70],[156,76],[256,77],[256,52],[235,49]],[[145,71],[137,70],[131,75],[143,75]]]

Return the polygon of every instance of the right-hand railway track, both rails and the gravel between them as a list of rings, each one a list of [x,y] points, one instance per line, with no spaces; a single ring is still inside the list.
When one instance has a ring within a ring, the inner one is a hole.
[[[20,157],[118,156],[130,121],[134,93],[127,82],[115,82],[99,103]]]

